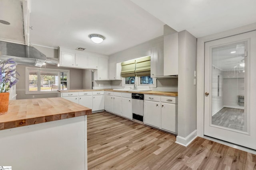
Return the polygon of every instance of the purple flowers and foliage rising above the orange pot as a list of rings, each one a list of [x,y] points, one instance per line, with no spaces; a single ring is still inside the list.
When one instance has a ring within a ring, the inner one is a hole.
[[[7,92],[18,82],[16,74],[20,74],[16,71],[16,65],[13,59],[0,61],[0,93]]]

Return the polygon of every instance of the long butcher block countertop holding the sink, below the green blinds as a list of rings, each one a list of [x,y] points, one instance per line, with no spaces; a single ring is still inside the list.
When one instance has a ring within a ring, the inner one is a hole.
[[[120,91],[113,89],[97,89],[97,90],[58,90],[58,92],[90,92],[90,91],[111,91],[111,92],[128,92],[128,93],[140,93],[140,94],[150,94],[150,95],[161,95],[161,96],[178,96],[178,92],[162,92],[162,91],[146,91],[146,92],[132,92],[132,91]]]

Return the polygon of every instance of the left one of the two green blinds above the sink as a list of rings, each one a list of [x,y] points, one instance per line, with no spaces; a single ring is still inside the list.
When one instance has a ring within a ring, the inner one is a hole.
[[[135,60],[124,61],[121,63],[121,66],[122,66],[122,70],[121,70],[122,77],[135,76]]]

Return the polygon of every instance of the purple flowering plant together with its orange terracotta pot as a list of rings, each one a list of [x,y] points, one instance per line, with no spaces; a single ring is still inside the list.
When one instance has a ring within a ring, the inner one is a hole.
[[[8,90],[18,82],[19,79],[16,77],[16,74],[20,76],[16,71],[16,63],[13,59],[0,60],[0,115],[8,111]]]

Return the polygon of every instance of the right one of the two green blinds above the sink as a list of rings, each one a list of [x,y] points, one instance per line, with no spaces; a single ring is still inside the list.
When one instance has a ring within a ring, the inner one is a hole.
[[[150,76],[150,56],[142,57],[135,60],[136,76]]]

